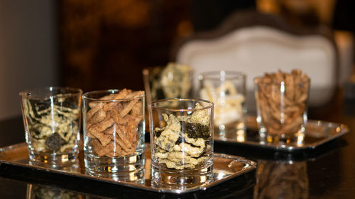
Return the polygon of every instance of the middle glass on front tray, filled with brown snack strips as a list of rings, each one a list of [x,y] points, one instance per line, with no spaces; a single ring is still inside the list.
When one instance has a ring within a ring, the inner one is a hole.
[[[84,161],[88,174],[119,181],[144,176],[144,91],[84,93]]]

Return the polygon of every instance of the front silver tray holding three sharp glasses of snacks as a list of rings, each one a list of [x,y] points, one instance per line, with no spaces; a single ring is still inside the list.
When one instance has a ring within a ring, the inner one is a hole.
[[[106,183],[114,183],[119,186],[128,186],[131,188],[139,188],[146,191],[155,191],[160,193],[188,193],[192,191],[205,191],[207,188],[216,186],[219,183],[228,181],[231,178],[246,174],[249,171],[256,169],[256,162],[243,157],[236,157],[226,154],[214,153],[214,179],[212,182],[204,183],[200,186],[194,186],[189,188],[165,188],[155,187],[151,183],[151,151],[148,144],[146,144],[145,152],[145,169],[144,175],[141,180],[135,182],[119,181],[112,178],[102,178],[96,176],[90,176],[85,174],[83,153],[79,154],[79,161],[77,164],[65,167],[61,169],[47,168],[43,166],[31,165],[28,161],[28,148],[26,143],[14,144],[9,147],[0,148],[0,165],[10,164],[14,166],[21,166],[23,168],[37,169],[39,171],[62,174],[63,176],[75,176],[77,178],[87,178],[96,181],[102,181]]]

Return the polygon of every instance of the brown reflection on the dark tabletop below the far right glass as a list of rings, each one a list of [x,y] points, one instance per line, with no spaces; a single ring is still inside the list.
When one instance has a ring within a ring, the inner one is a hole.
[[[308,193],[306,161],[258,161],[254,199],[305,199]]]

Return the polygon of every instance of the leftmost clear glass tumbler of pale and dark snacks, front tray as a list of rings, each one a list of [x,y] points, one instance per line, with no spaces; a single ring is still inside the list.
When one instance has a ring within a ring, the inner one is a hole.
[[[51,167],[75,163],[82,90],[44,87],[22,91],[20,96],[31,163]]]

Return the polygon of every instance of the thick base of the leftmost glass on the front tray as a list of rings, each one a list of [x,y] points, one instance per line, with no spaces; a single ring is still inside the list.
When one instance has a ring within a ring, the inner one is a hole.
[[[48,154],[43,152],[30,152],[30,163],[38,166],[46,166],[53,169],[72,166],[77,163],[77,153]]]

